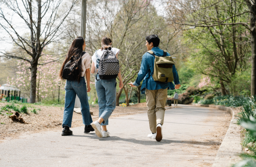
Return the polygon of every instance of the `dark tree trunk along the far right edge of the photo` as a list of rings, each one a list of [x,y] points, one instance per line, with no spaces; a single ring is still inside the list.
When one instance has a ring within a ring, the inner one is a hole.
[[[255,1],[253,1],[255,2]],[[255,22],[256,22],[256,18],[255,18],[255,15],[256,15],[256,9],[255,9],[255,5],[251,5],[251,1],[248,1],[247,2],[247,5],[248,5],[248,8],[251,12],[251,25],[250,25],[250,28],[251,28],[251,47],[252,47],[252,75],[251,75],[251,97],[253,95],[256,94],[256,77],[255,77],[255,63],[256,63],[256,60],[255,60],[255,55],[256,55],[256,27],[255,27]]]

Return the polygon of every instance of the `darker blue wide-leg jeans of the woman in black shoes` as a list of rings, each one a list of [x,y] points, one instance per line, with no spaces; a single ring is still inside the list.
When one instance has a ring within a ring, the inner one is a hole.
[[[65,90],[65,108],[63,113],[62,127],[64,127],[64,125],[71,127],[76,95],[80,99],[81,103],[83,124],[90,125],[92,123],[92,116],[90,114],[87,88],[84,77],[80,78],[80,83],[78,83],[78,81],[67,80]]]

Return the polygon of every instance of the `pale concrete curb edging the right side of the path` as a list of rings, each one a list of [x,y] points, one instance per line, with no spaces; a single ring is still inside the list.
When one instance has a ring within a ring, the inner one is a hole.
[[[239,157],[239,154],[242,153],[243,150],[241,145],[241,127],[233,123],[235,121],[235,113],[233,108],[219,105],[193,105],[216,108],[218,110],[227,111],[232,115],[228,131],[226,132],[226,135],[220,145],[212,167],[230,167],[232,164],[240,161],[241,158]]]

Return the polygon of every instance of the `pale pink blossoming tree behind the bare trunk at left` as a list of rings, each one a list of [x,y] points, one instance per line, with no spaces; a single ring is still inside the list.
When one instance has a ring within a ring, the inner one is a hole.
[[[37,101],[48,98],[55,100],[58,97],[59,86],[63,87],[65,82],[62,82],[58,77],[61,64],[58,62],[51,62],[52,56],[45,55],[41,62],[50,62],[39,66],[36,74],[36,97]],[[7,78],[7,84],[16,86],[22,92],[30,93],[31,70],[30,64],[20,60],[18,62],[19,71],[16,72],[16,78]]]

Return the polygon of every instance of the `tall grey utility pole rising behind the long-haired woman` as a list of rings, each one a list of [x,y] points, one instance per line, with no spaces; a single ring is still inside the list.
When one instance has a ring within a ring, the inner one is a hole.
[[[85,40],[85,23],[86,23],[86,0],[82,0],[82,10],[81,10],[81,26],[80,35]],[[90,83],[87,83],[90,84]],[[78,96],[75,97],[75,108],[80,108],[81,103]]]

